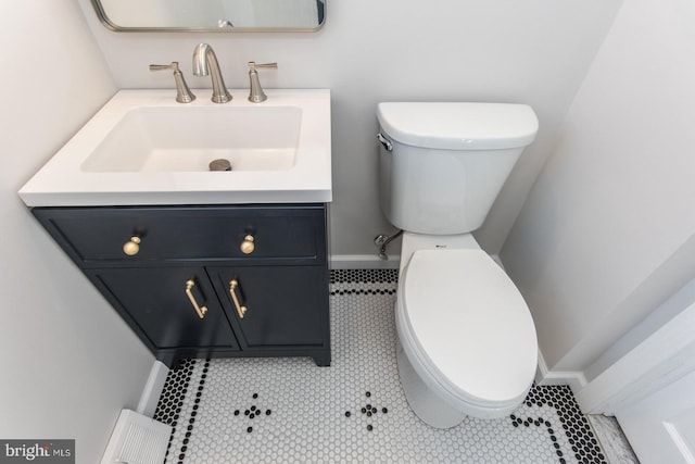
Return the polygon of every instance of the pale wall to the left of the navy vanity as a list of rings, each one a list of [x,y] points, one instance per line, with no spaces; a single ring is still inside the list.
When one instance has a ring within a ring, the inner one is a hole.
[[[14,0],[0,18],[0,437],[74,438],[101,456],[153,363],[16,190],[115,91],[74,0]]]

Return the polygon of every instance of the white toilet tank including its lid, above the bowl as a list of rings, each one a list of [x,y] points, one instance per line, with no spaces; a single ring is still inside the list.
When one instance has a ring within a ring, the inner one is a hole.
[[[479,228],[539,122],[526,104],[379,103],[381,209],[418,234]]]

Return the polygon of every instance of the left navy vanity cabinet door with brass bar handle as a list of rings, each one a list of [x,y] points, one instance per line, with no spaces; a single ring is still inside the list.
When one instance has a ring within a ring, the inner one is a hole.
[[[239,348],[202,267],[109,268],[87,274],[154,349]],[[195,305],[204,312],[202,318]]]

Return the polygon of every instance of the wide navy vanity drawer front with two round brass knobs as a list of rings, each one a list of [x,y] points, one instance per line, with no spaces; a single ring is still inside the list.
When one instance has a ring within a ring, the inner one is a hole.
[[[324,204],[35,208],[33,213],[83,267],[109,262],[326,261]],[[129,243],[134,254],[128,255],[124,244],[131,237],[139,243]]]

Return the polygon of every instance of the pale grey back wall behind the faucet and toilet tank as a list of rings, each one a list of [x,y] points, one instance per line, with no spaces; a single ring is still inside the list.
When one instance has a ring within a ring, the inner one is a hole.
[[[248,88],[248,61],[278,62],[263,73],[268,88],[330,88],[332,252],[376,256],[374,237],[392,230],[379,210],[376,104],[486,100],[535,109],[538,141],[477,234],[497,252],[621,0],[329,0],[315,34],[118,34],[97,22],[89,0],[79,2],[118,87],[173,87],[170,75],[148,71],[169,61],[180,62],[191,87],[210,87],[190,72],[193,48],[207,41],[230,88]]]

